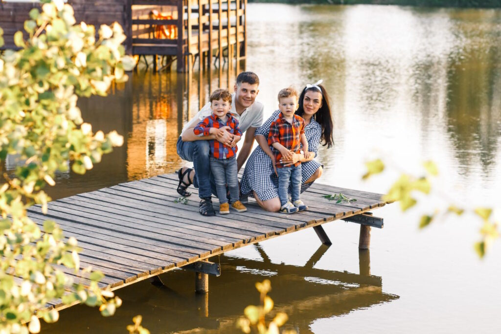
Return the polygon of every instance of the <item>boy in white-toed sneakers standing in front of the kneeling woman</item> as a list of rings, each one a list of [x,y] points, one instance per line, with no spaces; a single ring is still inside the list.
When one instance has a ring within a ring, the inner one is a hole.
[[[293,88],[285,88],[279,92],[279,109],[281,113],[277,120],[270,126],[268,135],[268,145],[272,148],[275,167],[279,177],[279,198],[282,207],[281,212],[294,213],[307,210],[308,206],[299,198],[301,190],[301,162],[291,166],[284,166],[281,159],[291,160],[293,153],[300,153],[300,144],[303,145],[303,152],[306,159],[310,156],[308,152],[308,141],[305,136],[305,121],[303,118],[294,115],[298,110],[298,92]],[[292,203],[289,201],[288,188],[291,183]]]

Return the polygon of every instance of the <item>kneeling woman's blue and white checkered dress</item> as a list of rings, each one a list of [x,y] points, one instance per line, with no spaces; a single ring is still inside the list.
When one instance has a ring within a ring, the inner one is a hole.
[[[275,111],[273,115],[261,126],[261,128],[256,130],[256,136],[262,135],[268,138],[270,126],[272,122],[278,118],[279,113],[280,110]],[[320,137],[322,136],[322,128],[313,118],[310,123],[305,126],[305,135],[306,140],[308,141],[308,151],[315,152],[316,157],[318,144],[320,143]],[[308,180],[320,166],[322,165],[315,160],[301,163],[303,182]],[[313,182],[303,183],[301,186],[301,192],[308,189],[312,183]],[[242,195],[253,196],[252,191],[254,190],[262,201],[267,201],[269,199],[279,197],[278,185],[279,179],[275,175],[272,159],[261,149],[260,146],[256,147],[254,152],[250,154],[250,157],[245,164],[243,176],[240,181],[240,192]]]

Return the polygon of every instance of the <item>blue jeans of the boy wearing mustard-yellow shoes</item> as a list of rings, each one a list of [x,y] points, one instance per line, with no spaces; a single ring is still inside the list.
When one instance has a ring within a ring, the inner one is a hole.
[[[226,184],[229,188],[229,200],[231,203],[239,198],[238,172],[236,168],[236,158],[216,159],[210,157],[210,172],[216,184],[217,198],[219,204],[227,203]]]

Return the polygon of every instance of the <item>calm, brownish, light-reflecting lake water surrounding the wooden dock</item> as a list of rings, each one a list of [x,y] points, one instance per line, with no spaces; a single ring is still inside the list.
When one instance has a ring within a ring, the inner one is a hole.
[[[335,146],[319,152],[320,182],[385,192],[400,171],[420,173],[432,159],[438,191],[406,214],[398,204],[378,209],[385,227],[373,230],[370,255],[359,254],[358,225],[332,222],[329,248],[305,230],[227,253],[206,296],[192,292],[192,273],[176,270],[162,277],[168,288],[118,290],[124,303],[112,318],[76,306],[44,331],[123,333],[142,314],[152,333],[237,332],[234,320],[258,302],[254,283],[270,278],[276,308],[301,333],[499,332],[501,243],[478,260],[474,217],[417,225],[444,198],[500,207],[501,11],[252,4],[247,27],[245,69],[260,76],[268,114],[279,89],[324,80]],[[140,71],[110,97],[82,100],[94,130],[116,129],[125,144],[85,176],[59,175],[51,195],[173,172],[184,164],[175,152],[183,122],[211,90],[232,85],[234,72],[186,80]],[[362,182],[374,157],[388,171]]]

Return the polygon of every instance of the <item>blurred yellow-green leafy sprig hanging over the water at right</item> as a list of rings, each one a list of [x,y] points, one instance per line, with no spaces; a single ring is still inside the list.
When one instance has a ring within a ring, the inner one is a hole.
[[[381,159],[368,161],[366,164],[367,172],[363,175],[363,179],[381,173],[385,169],[385,164]],[[425,174],[420,177],[415,177],[407,173],[402,173],[400,177],[392,184],[388,193],[383,196],[383,200],[388,202],[399,201],[400,208],[403,212],[407,211],[414,205],[417,200],[414,192],[429,194],[431,191],[430,178],[438,175],[438,168],[433,161],[425,161],[423,163]],[[455,204],[449,204],[446,208],[436,209],[431,214],[424,214],[419,220],[419,228],[424,228],[431,224],[438,216],[448,214],[462,215],[465,212],[470,212],[479,217],[482,221],[482,226],[479,230],[480,240],[475,242],[474,249],[478,256],[482,258],[488,246],[495,239],[499,238],[499,225],[491,219],[492,208],[487,207],[459,207]]]

